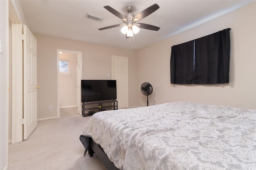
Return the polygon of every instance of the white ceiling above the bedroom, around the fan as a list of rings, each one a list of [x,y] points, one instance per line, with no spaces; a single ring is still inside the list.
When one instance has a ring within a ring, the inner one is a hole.
[[[255,0],[22,0],[26,24],[34,34],[141,49],[152,43],[213,20]],[[160,27],[159,31],[140,29],[134,41],[126,39],[122,27],[99,31],[101,27],[123,23],[103,8],[110,6],[126,16],[126,6],[133,6],[133,16],[153,4],[160,8],[140,20]],[[87,13],[102,16],[102,21],[86,18]],[[219,31],[219,30],[216,30]]]

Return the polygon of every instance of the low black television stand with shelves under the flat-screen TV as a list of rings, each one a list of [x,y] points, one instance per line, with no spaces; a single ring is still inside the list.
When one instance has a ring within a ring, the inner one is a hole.
[[[93,105],[93,104],[97,104],[98,107],[89,107],[86,108],[86,105]],[[108,104],[107,106],[103,106],[103,104]],[[118,109],[118,102],[117,100],[105,100],[105,101],[97,101],[97,102],[83,102],[82,103],[82,116],[86,117],[86,116],[91,116],[96,112],[92,112],[92,113],[85,113],[86,110],[96,110],[98,109],[98,111],[104,111],[107,108],[110,107],[114,107],[114,110]]]

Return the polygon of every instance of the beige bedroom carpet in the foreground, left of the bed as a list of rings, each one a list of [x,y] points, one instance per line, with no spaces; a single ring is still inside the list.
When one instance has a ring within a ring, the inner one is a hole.
[[[38,121],[26,141],[9,144],[8,170],[106,170],[96,155],[84,156],[79,137],[89,119],[72,115]]]

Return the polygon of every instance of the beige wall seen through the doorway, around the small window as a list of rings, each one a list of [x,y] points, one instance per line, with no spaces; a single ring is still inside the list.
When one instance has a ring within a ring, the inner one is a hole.
[[[60,61],[68,61],[69,74],[61,74],[60,79],[60,107],[77,106],[76,86],[77,86],[77,54],[61,53]]]

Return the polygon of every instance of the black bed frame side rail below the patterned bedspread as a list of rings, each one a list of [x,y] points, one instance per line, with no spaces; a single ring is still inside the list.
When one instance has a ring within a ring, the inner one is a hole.
[[[96,143],[94,143],[92,138],[90,138],[90,146],[88,149],[88,153],[90,157],[92,157],[93,154],[96,153],[98,158],[101,160],[101,162],[106,166],[108,170],[120,170],[116,168],[114,163],[109,160],[108,156],[106,155],[104,150],[100,147],[100,145],[97,145]]]

